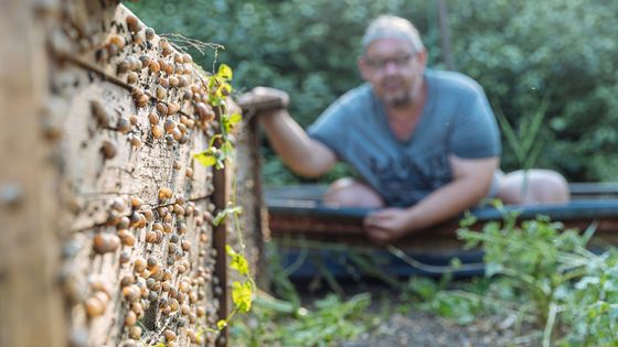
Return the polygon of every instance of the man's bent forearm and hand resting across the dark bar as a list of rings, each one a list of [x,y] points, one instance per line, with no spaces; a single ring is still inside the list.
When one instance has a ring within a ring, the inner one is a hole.
[[[487,196],[498,169],[498,158],[470,160],[450,155],[449,162],[452,182],[412,207],[386,208],[370,214],[364,220],[369,237],[380,243],[391,242],[404,235],[448,220]]]

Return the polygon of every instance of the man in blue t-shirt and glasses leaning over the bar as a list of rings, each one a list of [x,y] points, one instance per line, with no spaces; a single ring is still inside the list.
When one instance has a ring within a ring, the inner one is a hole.
[[[371,23],[358,65],[366,84],[331,105],[307,132],[285,108],[259,119],[275,151],[296,173],[318,176],[337,160],[362,182],[334,182],[324,203],[373,207],[367,236],[391,242],[455,217],[494,196],[505,203],[568,200],[564,178],[550,171],[499,174],[500,137],[482,88],[458,73],[426,68],[427,52],[407,20],[382,15]],[[278,99],[258,87],[241,102]],[[540,189],[541,188],[541,189]]]

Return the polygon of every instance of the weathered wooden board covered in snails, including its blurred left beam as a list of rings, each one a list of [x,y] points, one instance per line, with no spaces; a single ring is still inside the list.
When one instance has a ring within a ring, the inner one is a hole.
[[[215,238],[212,219],[230,175],[215,182],[193,159],[219,127],[209,76],[117,1],[4,1],[0,13],[0,30],[20,33],[0,36],[0,346],[170,333],[178,346],[227,345],[206,328],[228,310],[232,227]],[[248,167],[234,169],[241,187]]]

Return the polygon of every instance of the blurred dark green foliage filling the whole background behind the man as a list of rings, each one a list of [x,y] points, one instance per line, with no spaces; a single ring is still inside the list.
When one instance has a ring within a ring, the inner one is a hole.
[[[617,181],[618,1],[445,2],[455,69],[479,80],[496,112],[508,119],[521,142],[537,142],[534,166],[557,170],[569,181]],[[148,0],[126,4],[159,34],[178,33],[225,46],[216,53],[190,53],[206,71],[222,62],[231,65],[239,93],[258,85],[287,90],[291,112],[305,127],[361,83],[356,72],[360,37],[381,13],[412,20],[428,47],[429,66],[445,68],[437,1]],[[530,139],[531,124],[539,119],[540,130]],[[503,141],[505,171],[522,166],[515,147]],[[267,184],[298,182],[267,142],[264,153]],[[326,180],[347,173],[344,165],[337,166]]]

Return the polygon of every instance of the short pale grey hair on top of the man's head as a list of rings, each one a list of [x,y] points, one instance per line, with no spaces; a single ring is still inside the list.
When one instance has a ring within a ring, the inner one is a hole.
[[[401,39],[407,41],[415,52],[425,50],[418,30],[408,20],[401,17],[382,14],[374,19],[363,35],[363,52],[372,42],[380,39]]]

